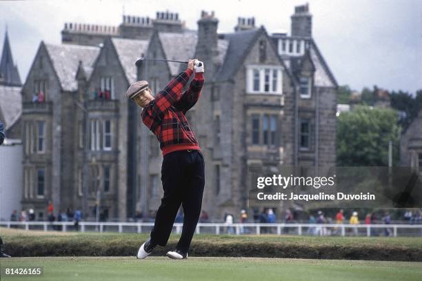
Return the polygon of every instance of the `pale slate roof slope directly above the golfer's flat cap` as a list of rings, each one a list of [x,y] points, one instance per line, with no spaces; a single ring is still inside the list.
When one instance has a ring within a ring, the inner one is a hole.
[[[126,79],[129,84],[134,83],[137,81],[137,67],[134,62],[145,54],[149,40],[112,38],[111,41],[125,71]]]

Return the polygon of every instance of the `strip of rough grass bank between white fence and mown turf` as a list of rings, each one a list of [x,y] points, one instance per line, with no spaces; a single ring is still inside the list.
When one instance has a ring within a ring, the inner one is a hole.
[[[0,230],[6,251],[24,256],[130,256],[148,234]],[[174,249],[172,235],[154,255]],[[195,235],[191,256],[422,261],[422,238]]]

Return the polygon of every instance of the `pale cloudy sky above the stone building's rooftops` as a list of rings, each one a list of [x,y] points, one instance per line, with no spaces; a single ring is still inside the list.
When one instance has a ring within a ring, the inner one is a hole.
[[[214,11],[219,32],[232,32],[237,17],[255,17],[269,32],[290,33],[294,6],[306,0],[0,1],[0,48],[6,26],[24,81],[41,41],[61,43],[65,22],[118,26],[122,15],[155,18],[178,12],[197,30],[201,10]],[[312,35],[339,85],[354,90],[422,89],[422,0],[310,0]]]

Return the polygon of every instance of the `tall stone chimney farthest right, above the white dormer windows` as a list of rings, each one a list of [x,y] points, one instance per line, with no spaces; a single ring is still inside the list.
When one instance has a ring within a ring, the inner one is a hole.
[[[312,14],[309,12],[308,3],[294,7],[291,19],[292,36],[312,37]]]

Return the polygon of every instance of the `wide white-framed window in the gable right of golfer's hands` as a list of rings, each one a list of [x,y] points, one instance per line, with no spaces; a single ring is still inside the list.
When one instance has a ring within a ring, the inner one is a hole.
[[[281,70],[279,66],[249,66],[246,88],[248,93],[282,93]]]

